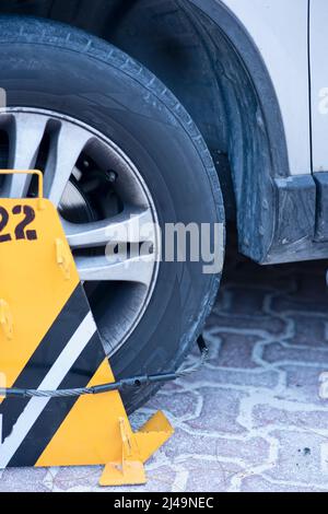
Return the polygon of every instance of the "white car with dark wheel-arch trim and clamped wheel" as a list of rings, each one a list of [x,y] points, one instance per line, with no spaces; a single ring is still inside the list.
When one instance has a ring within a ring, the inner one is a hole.
[[[44,172],[118,377],[176,369],[221,278],[156,261],[160,232],[134,223],[226,219],[259,264],[328,257],[327,0],[2,0],[0,14],[0,167]],[[34,192],[2,179],[2,197]],[[128,252],[107,258],[108,242]]]

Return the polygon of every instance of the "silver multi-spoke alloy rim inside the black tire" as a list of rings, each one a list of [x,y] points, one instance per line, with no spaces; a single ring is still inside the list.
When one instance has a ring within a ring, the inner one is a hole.
[[[104,316],[98,296],[106,291],[110,315],[99,325],[105,349],[113,354],[140,323],[157,280],[160,233],[149,188],[117,144],[69,116],[1,109],[1,139],[2,167],[43,171],[45,196],[60,212],[96,322]],[[22,198],[33,190],[30,176],[14,175],[3,177],[0,197]]]

